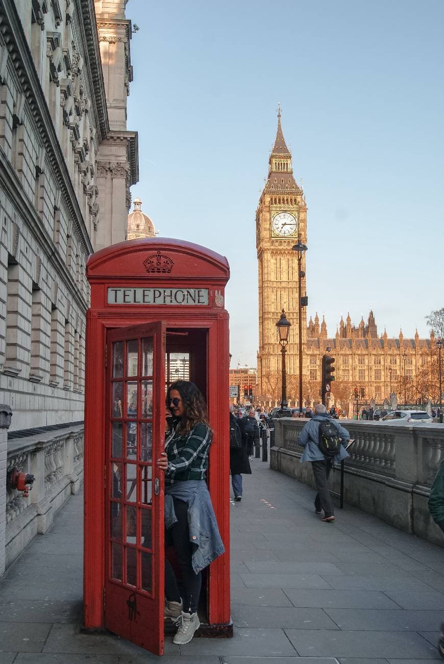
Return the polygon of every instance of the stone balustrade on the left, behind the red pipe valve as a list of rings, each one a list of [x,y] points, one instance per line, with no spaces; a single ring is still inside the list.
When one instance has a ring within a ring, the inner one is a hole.
[[[27,498],[22,491],[6,487],[5,568],[33,537],[46,533],[54,513],[72,493],[78,493],[83,477],[83,426],[10,440],[7,472],[14,466],[34,475],[35,481]]]

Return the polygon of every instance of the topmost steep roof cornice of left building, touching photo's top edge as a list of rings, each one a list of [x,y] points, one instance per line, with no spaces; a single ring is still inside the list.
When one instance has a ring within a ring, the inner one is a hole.
[[[77,3],[75,5],[78,7]],[[90,79],[89,84],[93,94],[98,126],[101,137],[104,138],[109,131],[109,120],[93,0],[81,0],[80,8],[79,26],[84,41],[83,50],[88,57],[88,66],[83,70],[83,74],[86,71]]]

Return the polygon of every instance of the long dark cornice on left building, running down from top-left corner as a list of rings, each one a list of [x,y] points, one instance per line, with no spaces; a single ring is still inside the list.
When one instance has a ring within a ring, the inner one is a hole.
[[[85,0],[86,1],[86,0]],[[43,143],[46,157],[50,161],[52,172],[56,178],[58,188],[62,192],[68,214],[76,222],[76,229],[86,254],[93,252],[91,240],[87,234],[83,221],[82,211],[78,203],[74,187],[70,178],[66,161],[57,139],[52,118],[44,98],[43,90],[38,80],[34,62],[26,41],[25,33],[13,0],[2,0],[0,3],[0,33],[5,41],[11,63],[27,100],[28,108],[32,114],[36,130]],[[3,152],[3,157],[5,153]],[[4,161],[4,160],[3,160]],[[6,163],[9,162],[6,160]],[[22,206],[29,208],[29,200],[22,201]],[[23,210],[23,207],[19,209]],[[40,223],[40,217],[38,218]],[[34,221],[35,223],[35,221]]]

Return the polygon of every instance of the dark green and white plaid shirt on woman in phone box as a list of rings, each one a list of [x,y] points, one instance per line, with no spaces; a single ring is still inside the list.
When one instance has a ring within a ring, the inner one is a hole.
[[[165,452],[168,468],[165,471],[165,484],[205,479],[208,467],[208,451],[213,434],[207,424],[196,424],[189,434],[181,436],[174,432],[166,440]]]

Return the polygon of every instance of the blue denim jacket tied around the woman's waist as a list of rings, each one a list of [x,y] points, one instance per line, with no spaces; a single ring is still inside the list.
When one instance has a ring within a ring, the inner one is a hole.
[[[165,486],[165,527],[176,522],[173,498],[188,503],[188,527],[193,544],[192,565],[195,574],[225,552],[216,515],[204,479],[188,479]]]

